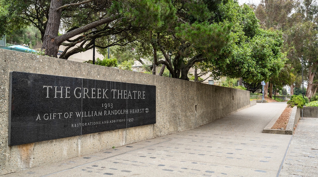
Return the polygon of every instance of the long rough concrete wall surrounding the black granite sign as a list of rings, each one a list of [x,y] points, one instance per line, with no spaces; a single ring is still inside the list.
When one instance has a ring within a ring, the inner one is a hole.
[[[8,146],[9,72],[156,86],[156,124]],[[0,49],[0,174],[196,128],[250,106],[249,92]]]

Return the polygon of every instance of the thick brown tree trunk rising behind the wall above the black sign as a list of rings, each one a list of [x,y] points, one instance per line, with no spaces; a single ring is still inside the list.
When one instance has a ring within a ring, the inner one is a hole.
[[[58,10],[63,4],[62,0],[51,0],[49,9],[49,18],[46,25],[46,30],[43,39],[42,49],[45,49],[45,55],[53,56],[57,58],[59,51],[59,44],[55,41],[55,37],[58,36],[59,26],[61,22],[62,10]]]

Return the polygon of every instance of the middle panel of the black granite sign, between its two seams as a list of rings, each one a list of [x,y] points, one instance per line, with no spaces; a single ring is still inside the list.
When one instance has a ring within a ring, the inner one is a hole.
[[[83,96],[83,134],[127,128],[127,100],[123,93],[127,83],[83,79],[83,88],[90,93],[95,89],[95,94]]]

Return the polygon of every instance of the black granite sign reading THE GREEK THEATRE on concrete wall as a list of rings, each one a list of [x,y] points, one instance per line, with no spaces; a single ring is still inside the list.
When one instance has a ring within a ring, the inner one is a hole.
[[[10,146],[156,123],[156,86],[10,72]]]

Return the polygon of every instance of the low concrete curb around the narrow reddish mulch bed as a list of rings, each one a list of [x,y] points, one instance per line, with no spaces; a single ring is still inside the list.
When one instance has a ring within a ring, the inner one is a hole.
[[[273,133],[273,134],[293,134],[294,130],[296,128],[296,124],[298,123],[300,119],[300,109],[294,106],[292,113],[289,117],[289,121],[287,123],[286,130],[281,130],[281,129],[271,129],[281,113],[276,115],[263,129],[263,133]]]

